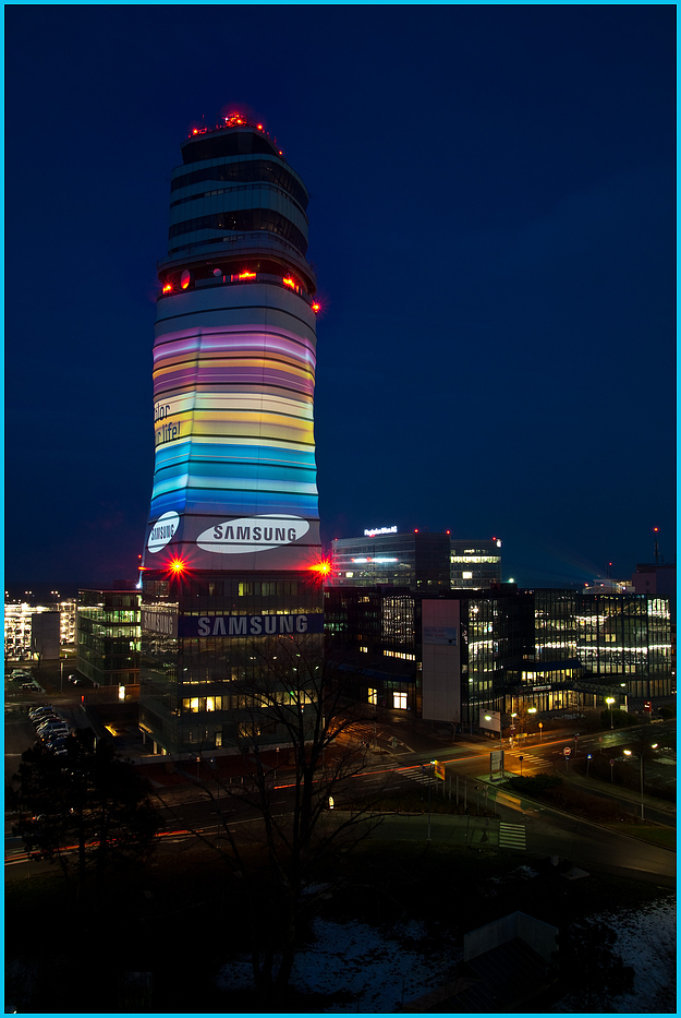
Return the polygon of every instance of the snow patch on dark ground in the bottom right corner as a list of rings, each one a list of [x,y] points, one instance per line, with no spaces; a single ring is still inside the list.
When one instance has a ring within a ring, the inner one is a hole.
[[[617,934],[612,951],[634,970],[632,993],[605,995],[598,1011],[616,1015],[676,1014],[677,996],[677,902],[669,898],[643,909],[620,913],[604,912],[592,917]],[[585,1014],[581,996],[568,995],[556,1010],[562,1014]],[[593,1002],[588,1005],[593,1011]]]

